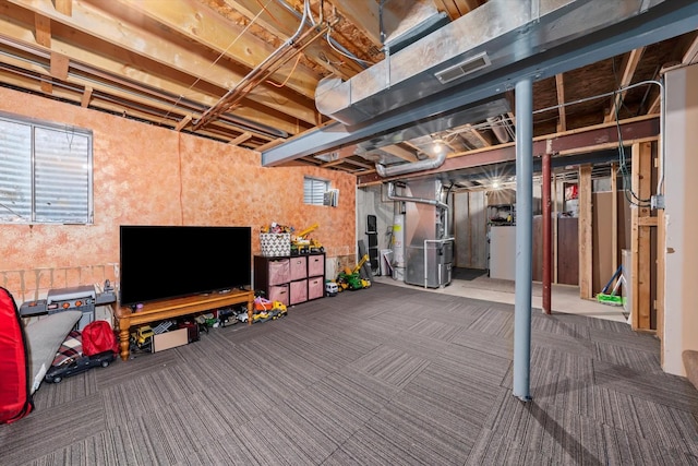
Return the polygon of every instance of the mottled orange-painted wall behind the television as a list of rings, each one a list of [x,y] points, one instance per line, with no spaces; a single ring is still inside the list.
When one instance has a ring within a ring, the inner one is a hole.
[[[94,225],[0,224],[0,286],[17,301],[57,284],[113,278],[122,224],[251,226],[258,253],[262,225],[302,229],[317,223],[313,235],[329,258],[354,253],[353,176],[262,167],[253,151],[5,88],[0,111],[94,134]],[[340,191],[339,206],[304,205],[305,175],[330,180]]]

